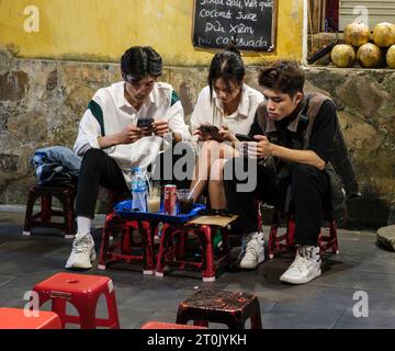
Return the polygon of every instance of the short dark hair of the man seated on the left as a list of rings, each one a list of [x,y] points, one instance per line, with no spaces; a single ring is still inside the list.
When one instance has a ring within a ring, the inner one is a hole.
[[[150,46],[132,46],[121,58],[121,71],[124,79],[131,76],[140,80],[146,76],[159,77],[162,72],[162,59]]]

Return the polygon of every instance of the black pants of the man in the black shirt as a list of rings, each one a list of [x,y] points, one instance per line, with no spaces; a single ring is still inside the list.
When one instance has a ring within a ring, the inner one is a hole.
[[[240,166],[242,165],[242,166]],[[225,172],[235,167],[245,167],[245,159],[228,161]],[[239,215],[233,225],[236,233],[257,231],[257,205],[260,201],[283,208],[287,189],[291,185],[291,199],[295,213],[295,244],[316,246],[324,219],[324,199],[327,199],[329,182],[326,173],[307,165],[295,165],[291,176],[278,181],[274,172],[263,166],[257,167],[257,184],[252,191],[238,191],[236,179],[225,180],[225,193],[228,208]]]

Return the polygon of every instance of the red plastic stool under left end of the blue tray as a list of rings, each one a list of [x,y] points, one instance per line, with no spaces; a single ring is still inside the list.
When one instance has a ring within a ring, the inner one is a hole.
[[[135,242],[133,230],[137,230],[142,241]],[[151,224],[146,220],[127,220],[117,216],[114,212],[105,217],[102,231],[102,241],[99,254],[99,269],[105,270],[106,267],[115,262],[138,263],[143,265],[144,274],[154,274],[155,252],[154,252],[154,231]],[[110,245],[110,238],[115,238],[121,233],[121,239]],[[139,249],[139,253],[133,253],[133,249]]]

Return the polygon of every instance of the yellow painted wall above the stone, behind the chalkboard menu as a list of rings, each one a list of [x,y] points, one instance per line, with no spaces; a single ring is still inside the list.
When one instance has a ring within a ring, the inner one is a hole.
[[[245,53],[246,63],[302,59],[303,0],[278,0],[274,54]],[[26,33],[26,5],[40,9],[38,33]],[[0,46],[22,58],[117,61],[132,45],[151,45],[169,66],[206,66],[212,50],[191,41],[193,0],[0,0]]]

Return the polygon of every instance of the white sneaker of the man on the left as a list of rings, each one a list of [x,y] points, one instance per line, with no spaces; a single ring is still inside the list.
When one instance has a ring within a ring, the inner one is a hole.
[[[78,233],[72,241],[71,254],[67,260],[67,269],[91,269],[95,260],[94,242],[89,233]]]

